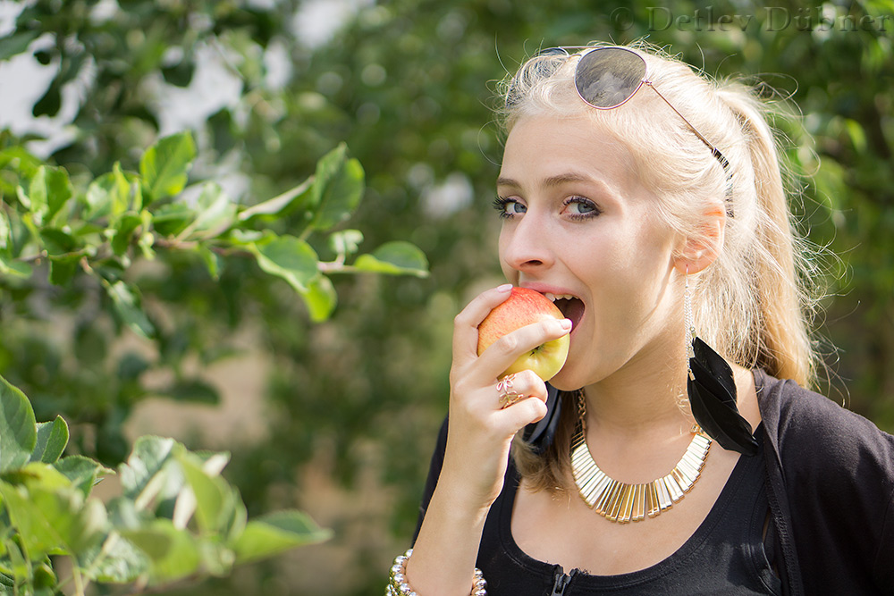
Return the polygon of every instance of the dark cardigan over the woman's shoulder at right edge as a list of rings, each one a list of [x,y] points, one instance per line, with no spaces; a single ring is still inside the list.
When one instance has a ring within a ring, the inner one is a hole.
[[[771,486],[789,504],[804,571],[815,572],[805,584],[894,588],[894,436],[794,381],[755,381]]]

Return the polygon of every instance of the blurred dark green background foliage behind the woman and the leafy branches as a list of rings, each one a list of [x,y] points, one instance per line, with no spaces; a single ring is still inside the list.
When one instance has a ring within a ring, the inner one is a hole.
[[[407,239],[430,264],[422,281],[334,279],[339,306],[320,326],[308,326],[294,294],[249,261],[226,267],[216,285],[188,259],[172,259],[164,277],[148,272],[141,288],[171,310],[170,337],[159,350],[165,361],[197,352],[213,358],[226,353],[235,330],[259,330],[257,348],[272,363],[271,416],[266,437],[235,449],[227,468],[249,512],[307,500],[313,513],[321,470],[344,491],[340,514],[320,520],[335,529],[325,558],[307,567],[291,559],[254,567],[208,583],[207,593],[247,585],[273,594],[324,586],[381,593],[391,558],[409,541],[446,411],[452,317],[478,290],[502,281],[487,198],[501,154],[489,109],[494,82],[540,46],[646,38],[713,76],[763,80],[777,99],[798,106],[795,118],[780,121],[789,160],[805,174],[795,207],[812,241],[839,256],[821,264],[834,298],[817,325],[838,348],[825,348],[832,382],[821,389],[894,430],[890,0],[787,0],[772,8],[747,1],[357,2],[342,29],[318,46],[294,18],[326,4],[312,0],[119,0],[120,10],[98,11],[104,4],[32,2],[0,46],[6,56],[28,48],[38,63],[58,69],[35,113],[53,113],[65,105],[66,88],[77,91],[73,134],[53,151],[55,164],[72,175],[108,172],[115,162],[134,169],[135,148],[180,122],[165,115],[165,97],[214,95],[207,84],[223,93],[219,80],[202,76],[214,63],[236,91],[189,122],[201,177],[235,178],[241,191],[233,196],[253,205],[297,186],[344,141],[367,172],[355,215],[364,246]],[[274,230],[287,233],[293,224]],[[328,246],[314,248],[336,258]],[[59,297],[66,299],[73,298]],[[92,387],[142,382],[139,366],[125,367],[128,376],[90,361],[89,346],[111,349],[112,333],[102,325],[75,325],[59,338],[11,318],[4,315],[0,373],[32,395],[50,382],[80,386],[66,381],[72,353],[90,370]],[[95,399],[72,391],[63,402],[47,401],[42,417],[77,413]],[[106,426],[123,422],[113,418]]]

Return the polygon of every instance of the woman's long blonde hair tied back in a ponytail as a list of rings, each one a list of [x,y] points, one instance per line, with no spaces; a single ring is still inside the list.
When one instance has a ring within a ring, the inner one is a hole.
[[[727,168],[645,86],[617,109],[586,105],[574,86],[577,59],[564,55],[532,58],[504,82],[503,130],[508,134],[520,119],[544,113],[592,119],[628,148],[637,175],[656,197],[655,213],[683,238],[702,239],[705,214],[724,209],[722,248],[713,264],[691,276],[698,335],[738,365],[813,386],[811,259],[789,210],[789,174],[770,124],[776,114],[754,88],[709,80],[645,44],[633,49],[645,59],[654,87],[721,151]],[[519,471],[535,488],[562,488],[576,411],[573,395],[566,394],[561,431],[544,456],[516,441]]]

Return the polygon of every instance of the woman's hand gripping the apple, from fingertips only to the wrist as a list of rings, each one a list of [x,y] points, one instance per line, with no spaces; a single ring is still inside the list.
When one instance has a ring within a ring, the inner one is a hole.
[[[512,437],[546,415],[546,383],[532,371],[512,378],[512,390],[527,399],[502,407],[498,375],[522,354],[570,331],[567,320],[522,327],[496,340],[479,357],[478,325],[510,296],[510,285],[487,290],[454,320],[450,424],[441,473],[444,488],[470,508],[489,508],[502,490]]]

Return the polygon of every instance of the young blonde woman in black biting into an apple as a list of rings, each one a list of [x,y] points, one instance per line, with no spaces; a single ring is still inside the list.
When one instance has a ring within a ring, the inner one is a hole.
[[[505,106],[510,284],[456,317],[449,420],[388,593],[894,593],[894,437],[803,389],[805,256],[761,102],[593,46],[529,60]],[[478,357],[511,285],[568,318]],[[566,333],[558,396],[498,379]]]

